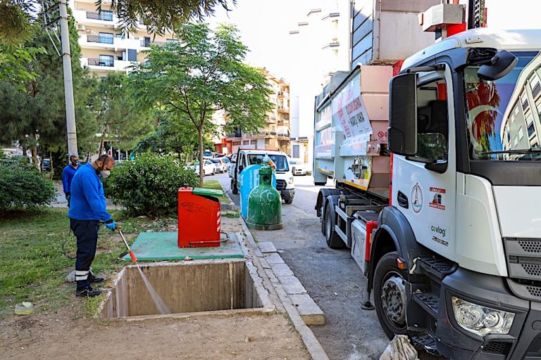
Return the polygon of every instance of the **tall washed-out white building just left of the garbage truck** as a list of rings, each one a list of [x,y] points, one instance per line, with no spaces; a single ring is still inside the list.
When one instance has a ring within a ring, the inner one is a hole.
[[[306,17],[290,30],[290,41],[299,56],[292,58],[290,82],[292,158],[313,162],[314,98],[321,86],[340,70],[349,70],[350,1],[311,2]]]

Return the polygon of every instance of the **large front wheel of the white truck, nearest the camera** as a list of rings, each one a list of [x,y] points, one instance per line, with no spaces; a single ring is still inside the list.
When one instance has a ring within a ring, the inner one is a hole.
[[[396,251],[385,254],[375,266],[374,302],[375,312],[385,335],[404,335],[406,329],[406,284],[397,266]]]

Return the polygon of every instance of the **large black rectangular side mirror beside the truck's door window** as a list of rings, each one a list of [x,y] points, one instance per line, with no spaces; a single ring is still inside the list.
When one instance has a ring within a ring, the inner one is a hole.
[[[417,153],[417,74],[391,79],[389,94],[389,150],[397,155]]]

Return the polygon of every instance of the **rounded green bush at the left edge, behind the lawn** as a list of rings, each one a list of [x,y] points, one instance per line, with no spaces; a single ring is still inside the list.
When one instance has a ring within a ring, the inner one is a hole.
[[[27,157],[0,159],[0,211],[48,205],[55,199],[53,182],[43,179]]]

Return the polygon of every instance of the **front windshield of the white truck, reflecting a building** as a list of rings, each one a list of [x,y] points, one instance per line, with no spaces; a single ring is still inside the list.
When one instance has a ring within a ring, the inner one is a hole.
[[[479,79],[479,65],[464,70],[473,160],[541,160],[541,56],[537,51],[514,55],[514,70],[493,82]]]

